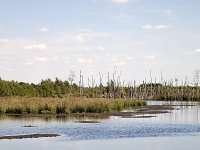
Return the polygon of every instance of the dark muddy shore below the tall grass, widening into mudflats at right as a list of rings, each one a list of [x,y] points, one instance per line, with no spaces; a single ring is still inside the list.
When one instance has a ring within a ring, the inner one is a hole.
[[[147,105],[141,108],[134,109],[126,109],[120,112],[104,112],[104,113],[68,113],[68,114],[0,114],[0,116],[22,116],[22,117],[111,117],[111,116],[119,116],[119,117],[135,117],[138,118],[138,115],[143,115],[141,118],[145,118],[144,115],[155,115],[162,113],[170,113],[171,110],[177,109],[175,107],[192,107],[195,105]],[[155,116],[153,116],[155,117]]]

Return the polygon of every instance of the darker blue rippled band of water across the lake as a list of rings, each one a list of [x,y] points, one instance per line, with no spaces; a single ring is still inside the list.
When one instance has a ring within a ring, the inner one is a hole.
[[[67,140],[116,139],[156,136],[179,136],[200,133],[200,126],[191,124],[66,124],[64,126],[41,126],[36,128],[0,129],[0,135],[31,133],[56,133]]]

